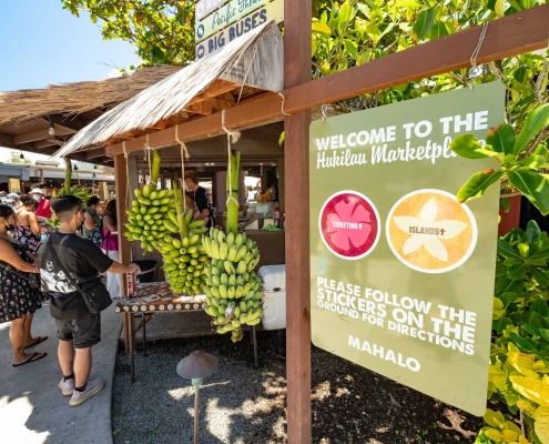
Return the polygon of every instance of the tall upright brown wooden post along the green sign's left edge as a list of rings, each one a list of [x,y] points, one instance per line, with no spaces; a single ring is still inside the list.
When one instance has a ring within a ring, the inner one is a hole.
[[[311,0],[284,6],[284,88],[311,80]],[[286,206],[286,387],[289,444],[311,443],[311,265],[308,127],[311,111],[284,121]]]

